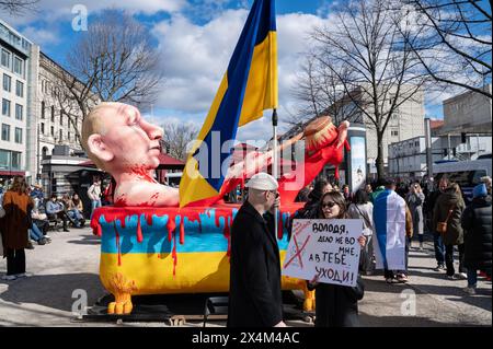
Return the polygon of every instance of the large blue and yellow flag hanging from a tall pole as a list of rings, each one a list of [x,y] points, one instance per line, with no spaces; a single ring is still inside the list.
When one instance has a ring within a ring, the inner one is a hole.
[[[239,126],[277,107],[274,0],[255,0],[180,182],[180,207],[219,194]],[[226,162],[225,162],[226,161]]]

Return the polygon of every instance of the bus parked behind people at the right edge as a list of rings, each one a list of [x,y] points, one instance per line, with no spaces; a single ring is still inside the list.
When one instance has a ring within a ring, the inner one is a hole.
[[[450,182],[457,183],[462,189],[466,203],[472,200],[472,188],[482,183],[484,176],[491,177],[491,154],[483,154],[477,160],[435,163],[433,173],[435,183],[446,175]]]

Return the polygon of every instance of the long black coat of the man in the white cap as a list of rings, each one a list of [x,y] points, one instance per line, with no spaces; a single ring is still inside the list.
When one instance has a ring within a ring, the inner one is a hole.
[[[231,228],[229,327],[283,321],[279,248],[274,229],[245,201]]]

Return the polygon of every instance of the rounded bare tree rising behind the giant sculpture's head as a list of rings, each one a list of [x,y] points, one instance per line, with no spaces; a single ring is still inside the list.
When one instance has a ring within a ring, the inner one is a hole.
[[[156,101],[163,74],[146,27],[125,12],[105,10],[80,35],[69,50],[57,89],[58,103],[70,124],[77,125],[79,116],[85,118],[99,102],[146,109]]]

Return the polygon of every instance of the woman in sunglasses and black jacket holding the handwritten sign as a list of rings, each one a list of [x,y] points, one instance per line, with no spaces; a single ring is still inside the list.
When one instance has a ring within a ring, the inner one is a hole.
[[[341,193],[329,191],[322,196],[319,205],[319,219],[346,219],[346,200]],[[365,246],[365,236],[358,242]],[[358,301],[363,299],[365,288],[358,276],[356,287],[319,283],[318,277],[308,282],[308,289],[316,289],[316,327],[356,327],[359,326]]]

